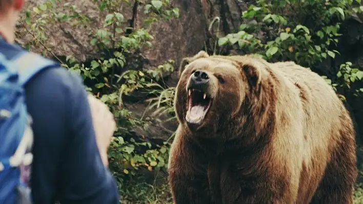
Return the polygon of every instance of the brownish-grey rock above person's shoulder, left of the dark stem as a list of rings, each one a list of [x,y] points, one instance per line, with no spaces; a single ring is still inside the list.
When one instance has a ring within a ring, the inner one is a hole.
[[[32,10],[34,6],[42,2],[45,1],[29,0],[26,3],[26,8]],[[79,61],[86,61],[87,59],[97,57],[97,53],[90,44],[92,38],[89,34],[103,27],[103,20],[106,14],[101,13],[97,5],[89,0],[62,1],[62,3],[57,3],[55,12],[69,13],[69,9],[63,6],[66,3],[75,5],[80,10],[80,13],[85,14],[91,19],[91,23],[87,27],[83,25],[71,25],[66,22],[52,22],[51,24],[47,24],[44,28],[47,31],[48,39],[44,43],[44,46],[57,56],[72,55]],[[34,40],[34,36],[29,33],[24,23],[25,11],[24,9],[19,19],[16,33],[17,41],[21,44]],[[44,50],[44,46],[38,43],[32,51],[41,53]],[[49,52],[46,56],[53,57]]]

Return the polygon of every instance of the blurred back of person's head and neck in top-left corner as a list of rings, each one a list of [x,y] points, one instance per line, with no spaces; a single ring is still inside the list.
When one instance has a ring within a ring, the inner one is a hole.
[[[16,20],[23,9],[25,0],[0,0],[0,33],[9,41],[14,41]]]

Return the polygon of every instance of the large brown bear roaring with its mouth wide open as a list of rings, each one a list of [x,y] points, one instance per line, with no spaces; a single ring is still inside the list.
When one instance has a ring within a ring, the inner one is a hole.
[[[176,204],[353,202],[352,120],[305,67],[200,51],[181,62],[174,108]]]

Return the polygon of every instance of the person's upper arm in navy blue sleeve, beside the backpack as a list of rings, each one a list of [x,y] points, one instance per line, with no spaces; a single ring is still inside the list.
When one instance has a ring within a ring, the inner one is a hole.
[[[31,187],[35,203],[119,203],[117,186],[96,145],[87,93],[63,68],[26,85],[33,118]]]

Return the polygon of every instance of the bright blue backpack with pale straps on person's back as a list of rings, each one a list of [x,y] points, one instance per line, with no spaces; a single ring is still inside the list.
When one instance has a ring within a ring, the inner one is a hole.
[[[0,204],[32,203],[32,119],[24,85],[39,71],[59,66],[31,52],[11,60],[0,53]]]

